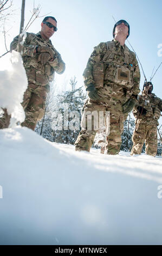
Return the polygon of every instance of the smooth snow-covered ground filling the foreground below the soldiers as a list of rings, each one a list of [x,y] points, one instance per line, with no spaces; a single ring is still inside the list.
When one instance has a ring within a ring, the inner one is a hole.
[[[75,152],[26,127],[0,141],[1,245],[162,245],[162,157]]]

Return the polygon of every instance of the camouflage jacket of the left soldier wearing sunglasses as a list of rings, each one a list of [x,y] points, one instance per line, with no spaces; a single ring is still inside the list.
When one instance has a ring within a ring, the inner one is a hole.
[[[10,45],[10,51],[17,51],[18,36],[14,38]],[[28,33],[23,44],[23,65],[27,73],[29,82],[45,86],[54,80],[55,71],[57,74],[62,74],[65,70],[65,64],[59,52],[56,51],[51,43],[51,40],[42,38],[41,33]],[[48,46],[54,51],[53,62],[47,62],[42,65],[38,62],[40,53],[34,53],[37,46]]]

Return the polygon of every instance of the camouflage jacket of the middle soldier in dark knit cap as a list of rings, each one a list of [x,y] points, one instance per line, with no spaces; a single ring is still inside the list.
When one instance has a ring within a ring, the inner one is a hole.
[[[101,74],[103,74],[103,83],[98,86],[97,77],[101,77]],[[119,93],[122,98],[135,99],[140,92],[140,70],[135,53],[126,45],[121,46],[116,40],[101,42],[94,47],[83,77],[86,88],[90,83],[96,88],[107,85],[111,97]]]

